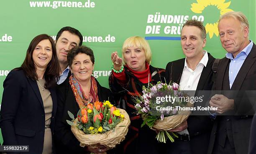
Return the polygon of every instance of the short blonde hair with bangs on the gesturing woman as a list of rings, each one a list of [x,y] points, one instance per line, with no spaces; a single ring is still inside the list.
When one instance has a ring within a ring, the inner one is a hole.
[[[151,63],[151,57],[152,57],[151,50],[150,50],[148,42],[143,37],[132,36],[132,37],[129,37],[128,39],[126,39],[125,42],[123,42],[122,58],[123,58],[124,64],[126,64],[125,59],[124,59],[124,54],[125,54],[125,50],[128,47],[138,47],[138,48],[144,50],[146,62],[148,64]]]

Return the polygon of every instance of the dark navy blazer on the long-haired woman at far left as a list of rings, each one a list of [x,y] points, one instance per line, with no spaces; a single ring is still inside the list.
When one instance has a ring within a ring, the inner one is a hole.
[[[23,70],[12,70],[3,83],[0,111],[3,145],[29,145],[29,154],[41,154],[44,147],[44,104],[36,81]],[[53,102],[51,132],[57,109],[56,90],[49,89]],[[17,152],[19,153],[19,152]]]

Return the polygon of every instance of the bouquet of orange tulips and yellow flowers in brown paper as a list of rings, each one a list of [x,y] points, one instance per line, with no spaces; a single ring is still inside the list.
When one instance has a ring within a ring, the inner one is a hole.
[[[80,146],[97,147],[104,145],[109,149],[125,139],[130,118],[123,109],[117,109],[109,101],[87,104],[77,112],[77,118],[68,111],[72,121],[67,120]]]

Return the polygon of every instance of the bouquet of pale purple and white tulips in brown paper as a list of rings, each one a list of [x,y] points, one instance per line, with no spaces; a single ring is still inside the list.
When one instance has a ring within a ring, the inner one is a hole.
[[[159,142],[166,143],[166,139],[174,142],[174,138],[178,137],[174,132],[167,132],[169,129],[174,129],[187,119],[190,111],[177,111],[176,107],[192,107],[193,104],[186,101],[174,101],[172,103],[163,101],[159,103],[159,97],[183,97],[187,94],[179,90],[179,84],[166,84],[157,82],[156,85],[149,84],[148,88],[143,86],[143,95],[135,99],[137,114],[141,114],[143,123],[148,125],[153,130],[158,130],[156,139]],[[158,100],[158,101],[157,101]],[[169,107],[168,109],[163,109]],[[170,108],[172,107],[172,110]]]

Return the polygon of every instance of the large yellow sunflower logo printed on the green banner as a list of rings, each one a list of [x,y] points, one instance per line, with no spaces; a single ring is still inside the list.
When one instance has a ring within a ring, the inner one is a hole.
[[[197,0],[197,3],[191,4],[191,10],[194,13],[203,13],[206,7],[208,6],[215,6],[219,11],[220,15],[225,14],[226,12],[233,11],[229,9],[231,1],[225,2],[225,0]],[[212,38],[213,34],[216,36],[219,35],[218,31],[218,21],[213,21],[212,23],[206,23],[205,25],[206,33],[209,34],[209,37]]]

